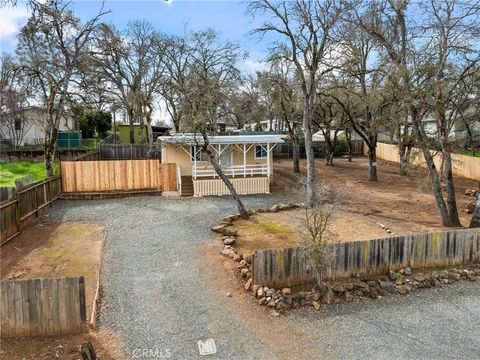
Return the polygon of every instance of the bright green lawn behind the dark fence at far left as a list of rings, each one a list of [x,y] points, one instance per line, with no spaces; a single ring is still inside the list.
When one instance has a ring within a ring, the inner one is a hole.
[[[53,164],[53,169],[55,173],[58,171],[58,163]],[[0,162],[0,186],[15,186],[15,179],[27,175],[33,175],[35,181],[45,179],[43,162]]]

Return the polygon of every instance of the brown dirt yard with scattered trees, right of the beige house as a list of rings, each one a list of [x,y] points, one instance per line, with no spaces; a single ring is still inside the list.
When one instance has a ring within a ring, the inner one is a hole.
[[[274,192],[295,193],[302,176],[306,174],[306,163],[301,163],[301,174],[291,170],[290,160],[275,161]],[[446,230],[429,187],[428,175],[422,170],[413,170],[408,177],[398,174],[398,165],[378,162],[377,182],[367,181],[368,162],[355,158],[349,163],[335,159],[335,166],[327,167],[322,160],[316,162],[317,180],[341,189],[344,200],[331,224],[329,240],[355,241],[408,234],[415,232]],[[467,225],[470,215],[465,213],[472,197],[466,196],[467,188],[476,188],[473,180],[456,178],[458,209],[462,224]],[[296,199],[293,198],[292,201]],[[238,221],[237,246],[249,253],[255,249],[295,246],[301,239],[300,210],[258,214],[250,221]],[[384,230],[379,224],[390,229]]]

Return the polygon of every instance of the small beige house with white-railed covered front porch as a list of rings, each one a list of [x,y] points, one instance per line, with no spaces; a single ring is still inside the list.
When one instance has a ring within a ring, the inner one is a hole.
[[[272,150],[284,135],[212,135],[210,148],[239,194],[270,192]],[[177,164],[182,195],[228,195],[230,192],[202,152],[198,134],[160,136],[162,163]]]

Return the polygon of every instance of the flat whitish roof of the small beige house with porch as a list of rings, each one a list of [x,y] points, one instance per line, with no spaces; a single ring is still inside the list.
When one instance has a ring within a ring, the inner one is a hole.
[[[285,142],[286,135],[211,135],[208,137],[210,144],[276,144]],[[200,134],[175,134],[171,136],[159,136],[158,141],[168,144],[203,144]]]

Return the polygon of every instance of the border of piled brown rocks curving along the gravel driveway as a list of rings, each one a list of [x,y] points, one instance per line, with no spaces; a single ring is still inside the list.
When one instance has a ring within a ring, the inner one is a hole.
[[[247,210],[249,215],[269,213],[303,208],[299,204],[276,204],[268,209]],[[291,288],[269,288],[261,284],[253,284],[252,257],[244,256],[237,252],[234,247],[237,231],[230,228],[240,215],[229,215],[222,219],[220,224],[211,230],[222,235],[223,250],[220,253],[238,262],[237,270],[243,281],[245,291],[252,292],[257,303],[276,310],[274,313],[284,313],[287,310],[299,309],[304,306],[312,306],[320,310],[322,305],[344,302],[359,302],[365,298],[380,299],[392,295],[407,295],[423,288],[442,288],[447,284],[460,280],[480,282],[480,263],[474,264],[472,269],[423,269],[423,272],[415,272],[410,268],[402,268],[398,271],[389,271],[386,275],[371,277],[355,277],[338,281],[325,282],[321,287],[316,286],[311,291],[293,292]],[[379,224],[380,225],[380,224]],[[228,294],[227,294],[228,296]]]

